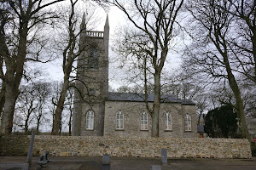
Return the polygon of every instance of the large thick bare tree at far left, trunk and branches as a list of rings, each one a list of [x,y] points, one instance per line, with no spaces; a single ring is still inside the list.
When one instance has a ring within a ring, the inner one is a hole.
[[[37,36],[42,25],[51,24],[49,19],[57,17],[54,12],[46,9],[61,1],[63,0],[1,0],[0,55],[1,62],[6,66],[5,73],[3,68],[0,69],[1,79],[6,87],[2,133],[12,132],[15,102],[26,60],[39,60],[38,55],[27,55],[28,47],[32,43],[40,44]]]

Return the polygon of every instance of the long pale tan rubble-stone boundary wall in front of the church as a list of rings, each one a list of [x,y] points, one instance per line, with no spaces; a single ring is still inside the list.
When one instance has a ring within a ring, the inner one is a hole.
[[[169,158],[252,158],[247,139],[93,136],[35,136],[33,155],[160,157],[162,148]]]

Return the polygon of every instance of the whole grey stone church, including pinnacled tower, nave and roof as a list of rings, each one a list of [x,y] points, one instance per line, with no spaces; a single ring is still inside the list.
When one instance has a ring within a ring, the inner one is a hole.
[[[81,23],[73,136],[150,137],[151,117],[144,94],[108,92],[108,16],[104,31],[86,31]],[[154,95],[148,95],[153,105]],[[172,95],[161,97],[160,137],[198,137],[195,104]]]

